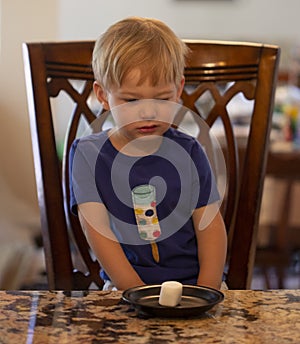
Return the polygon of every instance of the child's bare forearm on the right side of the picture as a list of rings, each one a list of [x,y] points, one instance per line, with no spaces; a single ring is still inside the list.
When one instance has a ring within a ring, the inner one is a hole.
[[[217,205],[211,204],[196,209],[193,223],[200,264],[197,284],[219,289],[226,260],[227,234]]]

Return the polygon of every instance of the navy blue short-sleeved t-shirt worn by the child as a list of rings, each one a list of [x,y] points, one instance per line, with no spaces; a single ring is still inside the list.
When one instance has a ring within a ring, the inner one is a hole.
[[[219,194],[195,138],[171,128],[155,153],[133,157],[117,151],[104,131],[73,143],[70,167],[72,211],[76,214],[77,205],[85,202],[103,203],[114,234],[146,284],[196,284],[199,263],[191,214],[216,202]],[[135,204],[134,190],[149,185],[155,191],[151,205]],[[148,218],[153,223],[146,227],[158,229],[154,240],[141,234]],[[151,241],[157,244],[159,262],[153,258]],[[109,279],[104,272],[102,277]]]

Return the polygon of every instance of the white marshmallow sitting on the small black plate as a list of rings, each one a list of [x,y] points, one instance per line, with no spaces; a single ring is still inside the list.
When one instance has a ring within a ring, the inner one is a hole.
[[[162,306],[175,307],[181,301],[182,284],[180,282],[163,282],[160,288],[158,303]]]

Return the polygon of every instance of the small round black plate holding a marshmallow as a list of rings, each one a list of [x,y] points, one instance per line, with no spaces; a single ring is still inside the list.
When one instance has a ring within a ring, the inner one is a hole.
[[[200,315],[224,299],[219,290],[184,285],[180,304],[166,307],[158,303],[160,288],[160,285],[134,287],[125,290],[122,297],[143,314],[168,318]]]

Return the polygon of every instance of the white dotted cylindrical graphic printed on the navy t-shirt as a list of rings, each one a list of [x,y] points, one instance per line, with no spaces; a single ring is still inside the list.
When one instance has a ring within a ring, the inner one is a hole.
[[[156,211],[156,191],[153,185],[139,185],[132,191],[134,214],[140,238],[154,241],[161,235]]]

